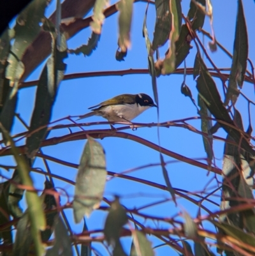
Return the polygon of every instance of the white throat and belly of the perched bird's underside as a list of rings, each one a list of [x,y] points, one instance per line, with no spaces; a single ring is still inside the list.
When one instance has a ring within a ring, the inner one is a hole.
[[[99,110],[98,116],[103,116],[108,121],[123,122],[125,119],[131,121],[149,108],[150,106],[139,104],[110,105]]]

